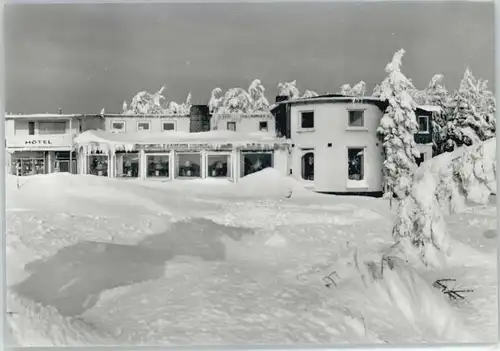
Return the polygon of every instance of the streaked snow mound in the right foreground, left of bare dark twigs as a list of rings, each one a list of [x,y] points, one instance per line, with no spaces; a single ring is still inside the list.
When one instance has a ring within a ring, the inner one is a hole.
[[[321,278],[321,284],[330,283],[330,305],[343,306],[350,314],[363,316],[366,329],[382,339],[393,342],[398,338],[402,342],[472,340],[450,301],[404,260],[392,258],[384,262],[382,268],[376,255],[352,249],[317,271],[315,276]],[[398,332],[380,335],[384,325],[397,325]]]

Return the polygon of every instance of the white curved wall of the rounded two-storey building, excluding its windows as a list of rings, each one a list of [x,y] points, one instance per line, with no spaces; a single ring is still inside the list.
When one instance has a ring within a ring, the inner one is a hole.
[[[348,128],[349,109],[364,110],[363,129]],[[300,131],[300,112],[314,111],[314,129]],[[322,102],[292,104],[290,110],[292,148],[291,168],[295,178],[321,192],[372,192],[382,190],[382,147],[376,129],[382,111],[373,104]],[[331,143],[331,147],[328,144]],[[364,184],[348,182],[347,149],[364,147]],[[314,181],[301,177],[301,149],[314,149]]]

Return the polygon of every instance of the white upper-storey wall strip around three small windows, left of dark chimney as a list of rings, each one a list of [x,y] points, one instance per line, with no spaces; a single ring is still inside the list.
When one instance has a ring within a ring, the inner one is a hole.
[[[104,128],[106,131],[111,131],[111,125],[113,122],[125,122],[125,132],[134,133],[137,132],[137,123],[142,121],[151,122],[150,130],[152,132],[161,132],[163,122],[174,122],[176,131],[189,133],[190,118],[187,116],[182,117],[157,117],[157,116],[117,116],[117,117],[106,117]]]

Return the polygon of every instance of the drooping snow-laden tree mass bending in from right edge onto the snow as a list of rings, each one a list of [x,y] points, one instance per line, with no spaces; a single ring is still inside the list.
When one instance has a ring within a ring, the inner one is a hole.
[[[407,257],[416,253],[426,265],[440,266],[451,249],[443,215],[463,211],[466,200],[487,203],[496,186],[496,138],[434,157],[416,171],[393,237]]]

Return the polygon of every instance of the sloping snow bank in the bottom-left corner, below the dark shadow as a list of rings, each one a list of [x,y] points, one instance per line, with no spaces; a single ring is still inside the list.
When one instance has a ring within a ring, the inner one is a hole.
[[[97,331],[78,318],[61,316],[55,308],[46,307],[31,300],[7,292],[8,331],[11,346],[99,346],[115,345],[109,335]]]

